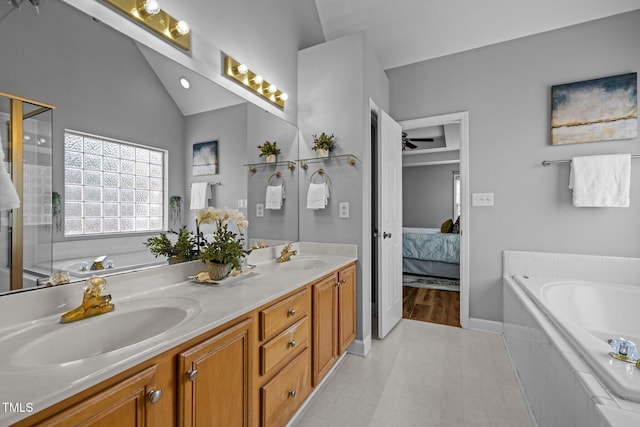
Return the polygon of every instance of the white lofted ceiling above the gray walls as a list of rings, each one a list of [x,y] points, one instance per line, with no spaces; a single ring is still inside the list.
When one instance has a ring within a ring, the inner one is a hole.
[[[326,40],[362,31],[382,68],[640,9],[638,0],[315,0]]]

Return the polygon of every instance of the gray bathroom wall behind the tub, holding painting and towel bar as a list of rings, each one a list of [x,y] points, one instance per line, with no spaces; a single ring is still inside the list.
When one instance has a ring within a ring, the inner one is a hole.
[[[574,208],[568,165],[544,159],[640,152],[639,140],[551,146],[550,87],[640,69],[640,11],[387,72],[396,120],[468,110],[470,317],[502,320],[503,250],[640,256],[640,163],[631,207]]]

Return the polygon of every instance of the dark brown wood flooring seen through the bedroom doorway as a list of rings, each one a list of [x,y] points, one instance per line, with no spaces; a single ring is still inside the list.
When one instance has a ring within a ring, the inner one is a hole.
[[[460,327],[460,292],[402,287],[402,317]]]

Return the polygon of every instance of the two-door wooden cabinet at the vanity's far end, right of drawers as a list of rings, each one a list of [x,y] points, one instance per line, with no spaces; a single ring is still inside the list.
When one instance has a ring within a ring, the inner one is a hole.
[[[355,265],[314,283],[313,385],[331,370],[356,337]]]

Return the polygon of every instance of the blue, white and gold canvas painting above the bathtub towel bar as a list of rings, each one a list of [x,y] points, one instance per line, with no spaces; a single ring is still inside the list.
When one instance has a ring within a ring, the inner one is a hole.
[[[638,73],[551,88],[551,143],[632,139],[638,135]]]

